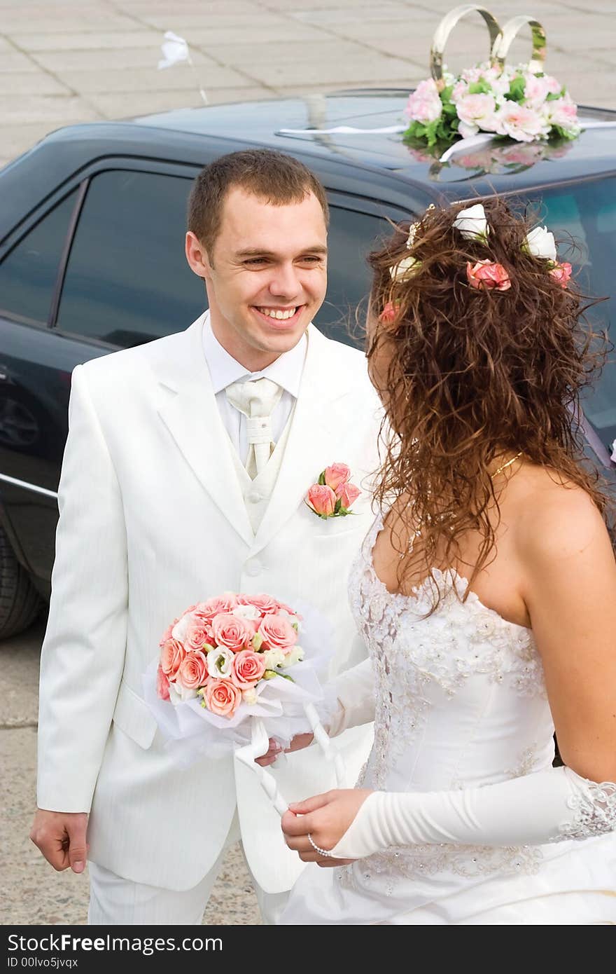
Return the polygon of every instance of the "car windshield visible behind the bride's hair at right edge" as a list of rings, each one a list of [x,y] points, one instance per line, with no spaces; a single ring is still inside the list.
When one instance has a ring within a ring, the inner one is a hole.
[[[616,312],[616,179],[608,178],[546,189],[541,212],[559,242],[559,257],[568,260],[582,290],[604,297],[589,313],[595,330],[610,327]],[[571,239],[567,248],[566,241]],[[616,333],[611,330],[611,341]],[[616,361],[609,356],[595,388],[585,393],[584,410],[607,444],[616,437]]]

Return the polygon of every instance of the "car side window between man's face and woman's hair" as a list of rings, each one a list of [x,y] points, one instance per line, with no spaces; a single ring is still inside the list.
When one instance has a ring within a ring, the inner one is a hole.
[[[378,239],[390,232],[390,225],[378,216],[331,207],[327,296],[314,318],[314,323],[330,338],[347,345],[363,345],[371,281],[366,257]]]

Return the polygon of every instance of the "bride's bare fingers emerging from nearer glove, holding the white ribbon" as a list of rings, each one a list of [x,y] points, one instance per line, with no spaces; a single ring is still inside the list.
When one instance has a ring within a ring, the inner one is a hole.
[[[281,823],[287,845],[299,852],[304,862],[315,862],[319,866],[342,866],[352,862],[352,859],[320,855],[310,843],[308,832],[319,848],[327,851],[335,848],[371,794],[368,788],[337,789],[289,805]]]

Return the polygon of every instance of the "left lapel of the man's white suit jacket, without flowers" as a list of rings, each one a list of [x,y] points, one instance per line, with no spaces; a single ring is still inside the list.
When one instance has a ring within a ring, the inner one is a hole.
[[[254,542],[201,345],[204,316],[183,334],[173,356],[155,366],[159,415],[184,459],[221,513],[247,543]]]

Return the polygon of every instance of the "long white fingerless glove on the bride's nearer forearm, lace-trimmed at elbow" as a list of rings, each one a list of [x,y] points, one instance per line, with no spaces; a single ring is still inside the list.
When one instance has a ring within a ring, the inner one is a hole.
[[[466,791],[373,792],[332,852],[361,859],[390,846],[541,845],[614,830],[614,782],[549,768]]]

